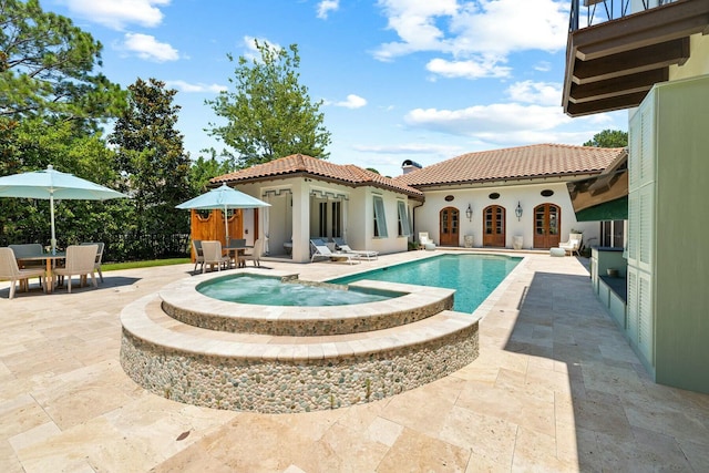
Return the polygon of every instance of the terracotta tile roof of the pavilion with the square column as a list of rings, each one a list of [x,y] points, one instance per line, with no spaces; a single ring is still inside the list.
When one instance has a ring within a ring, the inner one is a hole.
[[[388,188],[407,194],[411,197],[423,198],[423,193],[421,191],[413,188],[403,182],[394,181],[391,177],[379,175],[353,164],[335,164],[302,154],[292,154],[268,163],[257,164],[246,169],[239,169],[234,173],[213,177],[210,182],[215,184],[236,184],[275,177],[286,177],[292,174],[308,174],[316,178],[332,181],[354,187],[369,185]]]

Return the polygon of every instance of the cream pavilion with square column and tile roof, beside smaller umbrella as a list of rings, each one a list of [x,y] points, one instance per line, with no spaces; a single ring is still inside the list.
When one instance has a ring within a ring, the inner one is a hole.
[[[354,165],[291,155],[212,179],[271,206],[245,210],[247,243],[267,241],[269,255],[310,260],[311,238],[342,238],[350,247],[381,254],[405,251],[411,207],[423,193]]]

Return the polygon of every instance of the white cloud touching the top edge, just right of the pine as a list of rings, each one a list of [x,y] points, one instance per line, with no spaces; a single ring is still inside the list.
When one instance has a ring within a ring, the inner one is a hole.
[[[158,7],[168,6],[171,0],[63,0],[76,17],[122,30],[127,24],[157,27],[163,21]]]

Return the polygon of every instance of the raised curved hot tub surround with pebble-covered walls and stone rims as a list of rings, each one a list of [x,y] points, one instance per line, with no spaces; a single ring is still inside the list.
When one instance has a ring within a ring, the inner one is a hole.
[[[448,310],[451,289],[360,281],[351,286],[399,296],[266,306],[197,291],[217,277],[186,278],[125,307],[121,366],[140,385],[209,408],[307,412],[394,395],[477,357],[479,319]]]

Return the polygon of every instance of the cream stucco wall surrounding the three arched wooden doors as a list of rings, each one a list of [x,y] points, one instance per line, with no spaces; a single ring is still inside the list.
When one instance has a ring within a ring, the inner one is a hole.
[[[540,193],[544,189],[554,191],[551,197],[544,197]],[[491,199],[491,193],[499,193],[500,198]],[[445,196],[453,195],[452,202],[446,202]],[[517,202],[522,207],[522,218],[517,220],[515,208]],[[414,210],[414,235],[419,232],[428,232],[436,244],[440,243],[439,214],[444,207],[456,207],[460,212],[460,241],[463,246],[465,235],[473,235],[473,246],[483,246],[483,209],[489,205],[500,205],[505,208],[505,247],[512,247],[514,236],[524,238],[524,248],[531,248],[534,241],[534,207],[540,204],[552,203],[558,205],[561,213],[561,240],[566,241],[568,234],[574,229],[584,232],[584,240],[592,237],[598,238],[598,223],[576,222],[576,215],[566,189],[565,182],[506,185],[496,187],[427,191],[425,204]],[[473,209],[472,220],[465,216],[467,205]],[[596,240],[597,241],[597,240]]]

